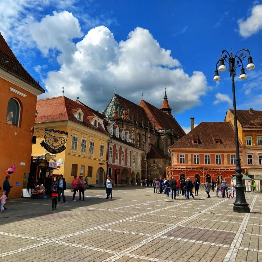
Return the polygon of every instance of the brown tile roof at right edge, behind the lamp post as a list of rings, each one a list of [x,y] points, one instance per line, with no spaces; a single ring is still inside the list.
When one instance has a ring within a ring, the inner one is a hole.
[[[229,109],[234,114],[233,109]],[[240,125],[243,127],[260,127],[262,128],[262,111],[252,110],[253,113],[249,113],[248,110],[236,110],[236,117]]]

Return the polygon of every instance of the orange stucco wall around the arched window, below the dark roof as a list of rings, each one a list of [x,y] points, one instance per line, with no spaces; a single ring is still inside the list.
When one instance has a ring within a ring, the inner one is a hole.
[[[11,92],[9,87],[27,96],[23,97]],[[0,186],[2,187],[5,178],[5,170],[12,165],[16,166],[16,170],[10,175],[10,185],[14,185],[17,181],[23,185],[24,173],[30,171],[32,128],[35,123],[37,96],[0,78],[0,97]],[[7,104],[12,97],[16,98],[21,106],[19,127],[6,124]],[[25,163],[25,165],[21,165],[21,162]],[[20,197],[22,185],[11,188],[9,198]]]

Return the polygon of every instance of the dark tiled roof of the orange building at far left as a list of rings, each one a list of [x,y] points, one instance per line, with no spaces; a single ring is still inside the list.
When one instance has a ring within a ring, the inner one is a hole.
[[[45,90],[39,85],[39,82],[36,81],[23,67],[17,58],[15,57],[14,53],[6,43],[6,40],[0,33],[0,68],[9,72],[13,76],[23,80],[27,84],[35,87],[36,89],[40,90],[42,93]]]

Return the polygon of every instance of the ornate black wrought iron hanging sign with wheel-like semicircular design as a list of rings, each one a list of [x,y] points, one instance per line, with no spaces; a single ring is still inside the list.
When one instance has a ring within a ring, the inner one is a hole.
[[[58,154],[66,149],[65,143],[67,141],[68,132],[57,129],[45,128],[43,130],[34,128],[34,137],[48,152],[51,154]]]

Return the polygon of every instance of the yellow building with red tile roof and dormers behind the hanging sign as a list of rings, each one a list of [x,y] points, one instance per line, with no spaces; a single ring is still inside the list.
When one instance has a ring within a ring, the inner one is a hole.
[[[111,137],[104,128],[103,115],[65,96],[38,100],[36,110],[38,115],[35,118],[34,135],[37,142],[33,145],[33,158],[43,158],[48,153],[39,143],[45,134],[45,140],[48,137],[54,140],[52,136],[56,133],[44,131],[45,129],[67,132],[67,140],[64,143],[66,149],[61,153],[51,154],[50,162],[57,162],[59,159],[59,162],[63,161],[59,170],[53,170],[54,174],[63,174],[68,187],[74,176],[80,174],[88,176],[89,185],[104,185],[108,141]],[[66,135],[61,136],[64,137],[62,140],[66,139]],[[59,140],[55,143],[59,143]],[[46,177],[49,171],[51,170],[48,170]]]

